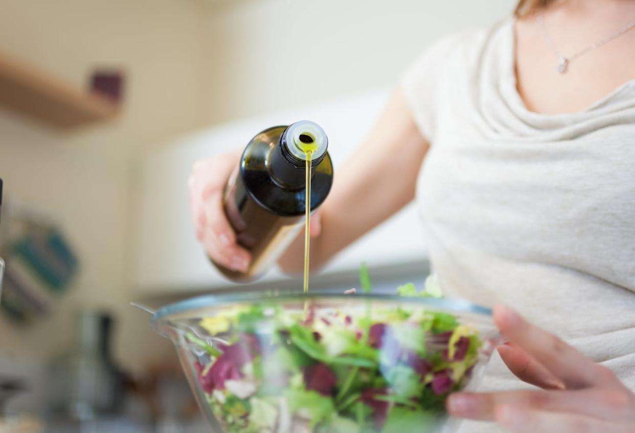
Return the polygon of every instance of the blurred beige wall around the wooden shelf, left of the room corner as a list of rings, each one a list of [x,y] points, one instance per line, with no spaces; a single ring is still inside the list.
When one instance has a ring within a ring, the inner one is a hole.
[[[7,198],[55,217],[81,259],[50,319],[18,330],[0,316],[0,355],[46,359],[64,349],[76,306],[119,316],[116,355],[128,366],[170,345],[129,306],[132,161],[141,148],[205,123],[201,4],[196,0],[0,1],[0,51],[77,86],[96,65],[122,66],[120,118],[57,132],[0,108],[0,177]],[[151,350],[150,350],[151,349]]]

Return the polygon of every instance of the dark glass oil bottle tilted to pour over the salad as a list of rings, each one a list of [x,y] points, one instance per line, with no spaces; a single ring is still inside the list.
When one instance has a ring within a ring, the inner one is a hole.
[[[308,120],[268,128],[251,139],[224,191],[225,214],[238,244],[251,252],[251,264],[242,273],[215,263],[226,277],[257,278],[308,226],[310,212],[324,202],[333,183],[327,147],[324,130]]]

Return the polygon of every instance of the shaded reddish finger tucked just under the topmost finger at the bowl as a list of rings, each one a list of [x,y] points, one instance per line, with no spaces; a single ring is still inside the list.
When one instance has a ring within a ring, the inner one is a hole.
[[[525,350],[512,344],[506,344],[498,346],[498,354],[500,354],[509,371],[514,373],[520,380],[543,389],[565,389],[562,381],[552,375],[549,370]]]

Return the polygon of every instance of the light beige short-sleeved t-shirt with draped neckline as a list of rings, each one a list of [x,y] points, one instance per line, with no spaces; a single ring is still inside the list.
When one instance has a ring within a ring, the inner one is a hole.
[[[402,88],[432,144],[417,203],[444,290],[511,305],[635,390],[635,80],[532,113],[506,20],[435,43]],[[521,387],[495,354],[481,388]]]

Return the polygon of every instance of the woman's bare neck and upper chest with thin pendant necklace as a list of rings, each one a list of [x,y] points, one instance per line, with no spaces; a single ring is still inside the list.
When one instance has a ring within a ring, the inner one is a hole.
[[[635,28],[617,35],[635,20],[635,0],[558,1],[538,15],[544,25],[536,15],[516,22],[517,88],[531,111],[580,111],[635,79]]]

